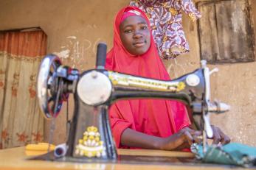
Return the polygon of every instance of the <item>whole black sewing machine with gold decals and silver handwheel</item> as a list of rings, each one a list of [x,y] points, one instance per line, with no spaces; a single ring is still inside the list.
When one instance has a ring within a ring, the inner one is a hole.
[[[74,94],[75,113],[66,145],[55,149],[55,156],[78,161],[116,160],[117,149],[108,121],[108,107],[120,99],[161,98],[184,102],[190,120],[203,131],[204,152],[207,137],[212,138],[210,113],[224,113],[229,105],[210,102],[210,71],[205,60],[201,68],[171,81],[136,77],[104,69],[106,45],[97,49],[97,68],[79,71],[63,66],[49,54],[38,74],[38,99],[44,116],[54,119],[69,93]],[[65,150],[67,149],[67,150]],[[64,152],[65,151],[65,152]]]

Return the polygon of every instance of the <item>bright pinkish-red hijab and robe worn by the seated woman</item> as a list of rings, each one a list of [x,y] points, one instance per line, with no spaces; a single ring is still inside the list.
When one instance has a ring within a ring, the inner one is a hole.
[[[163,65],[151,35],[151,46],[145,54],[134,56],[122,45],[120,39],[120,21],[125,10],[136,10],[150,22],[142,10],[137,7],[125,7],[117,13],[114,20],[114,45],[108,52],[105,68],[125,74],[153,79],[170,79]],[[167,137],[183,127],[190,125],[187,110],[180,102],[165,99],[131,99],[116,102],[110,109],[111,129],[117,147],[122,148],[122,132],[131,128],[148,135]]]

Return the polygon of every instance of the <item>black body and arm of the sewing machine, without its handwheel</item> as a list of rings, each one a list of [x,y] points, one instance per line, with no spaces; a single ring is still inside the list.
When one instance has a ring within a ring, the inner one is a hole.
[[[186,79],[189,75],[197,76],[201,83],[198,82],[196,87],[187,85]],[[144,88],[142,84],[145,84]],[[106,70],[84,71],[77,82],[75,117],[72,121],[68,144],[70,147],[67,154],[83,157],[79,149],[77,150],[79,148],[77,144],[82,140],[87,127],[96,127],[100,133],[100,139],[104,141],[102,157],[113,159],[116,157],[117,152],[109,129],[108,107],[119,99],[175,99],[184,102],[187,108],[193,109],[193,103],[201,103],[203,92],[204,81],[201,69],[172,81],[135,77]],[[190,117],[192,118],[192,115]],[[80,149],[83,148],[82,145],[80,146]]]

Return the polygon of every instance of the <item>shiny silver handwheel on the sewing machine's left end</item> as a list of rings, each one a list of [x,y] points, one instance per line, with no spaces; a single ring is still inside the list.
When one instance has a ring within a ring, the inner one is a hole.
[[[60,59],[49,54],[41,61],[38,73],[38,102],[45,118],[58,116],[62,105],[62,100],[58,100],[57,110],[55,110],[56,96],[58,91],[57,68],[61,65]],[[60,96],[61,98],[61,96]]]

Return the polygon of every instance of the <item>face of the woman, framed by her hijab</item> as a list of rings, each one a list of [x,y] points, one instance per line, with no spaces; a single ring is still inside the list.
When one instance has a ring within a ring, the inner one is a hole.
[[[120,24],[120,38],[125,49],[134,55],[144,54],[151,46],[147,21],[137,15],[125,18]]]

